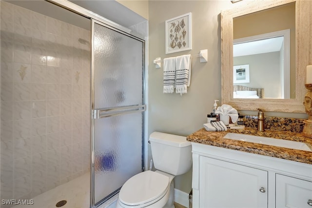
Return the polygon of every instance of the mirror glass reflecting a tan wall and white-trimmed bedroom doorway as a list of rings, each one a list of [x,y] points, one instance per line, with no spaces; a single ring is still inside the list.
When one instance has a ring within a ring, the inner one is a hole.
[[[250,82],[241,85],[263,88],[260,98],[295,98],[295,2],[234,18],[233,36],[234,70],[250,67]]]

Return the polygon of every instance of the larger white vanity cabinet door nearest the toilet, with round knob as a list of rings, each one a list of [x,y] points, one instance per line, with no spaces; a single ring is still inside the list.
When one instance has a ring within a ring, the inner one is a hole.
[[[200,156],[200,208],[267,208],[268,172]]]

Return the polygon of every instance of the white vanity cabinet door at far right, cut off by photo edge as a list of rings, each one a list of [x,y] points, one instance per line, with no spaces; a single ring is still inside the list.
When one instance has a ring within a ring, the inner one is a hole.
[[[312,182],[276,174],[275,183],[276,208],[312,208]]]

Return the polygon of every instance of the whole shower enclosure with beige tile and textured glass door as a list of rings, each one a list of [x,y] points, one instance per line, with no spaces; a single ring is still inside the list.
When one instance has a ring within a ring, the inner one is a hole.
[[[142,171],[144,41],[69,1],[0,9],[1,208],[99,206]]]

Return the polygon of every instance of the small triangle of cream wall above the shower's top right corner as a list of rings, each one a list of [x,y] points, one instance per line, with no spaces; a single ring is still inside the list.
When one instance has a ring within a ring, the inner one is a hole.
[[[117,0],[122,5],[128,7],[146,20],[149,18],[148,0]]]

